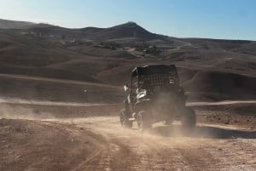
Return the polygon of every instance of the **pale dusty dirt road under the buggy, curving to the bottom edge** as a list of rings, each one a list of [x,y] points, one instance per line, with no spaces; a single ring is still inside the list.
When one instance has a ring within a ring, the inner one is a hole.
[[[73,170],[256,170],[256,131],[199,124],[192,134],[160,123],[145,134],[120,128],[118,117],[73,123],[102,137],[99,152]]]

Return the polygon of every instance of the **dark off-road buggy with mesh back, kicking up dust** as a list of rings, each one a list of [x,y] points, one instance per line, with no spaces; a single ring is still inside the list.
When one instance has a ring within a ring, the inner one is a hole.
[[[174,65],[143,66],[131,71],[131,87],[124,86],[127,98],[119,120],[124,128],[137,121],[140,131],[153,123],[172,124],[180,120],[184,128],[195,127],[195,111],[185,106],[187,96],[179,85]]]

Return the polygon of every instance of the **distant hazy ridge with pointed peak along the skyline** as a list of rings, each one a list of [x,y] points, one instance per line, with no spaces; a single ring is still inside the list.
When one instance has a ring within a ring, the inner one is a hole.
[[[135,38],[142,41],[153,39],[165,39],[165,36],[154,34],[138,26],[135,22],[127,22],[119,26],[109,28],[85,27],[80,29],[69,29],[61,26],[52,26],[47,24],[36,24],[32,22],[0,20],[0,29],[17,29],[40,32],[42,34],[51,34],[57,37],[68,36],[75,38],[87,38],[97,41],[106,41],[112,39]]]

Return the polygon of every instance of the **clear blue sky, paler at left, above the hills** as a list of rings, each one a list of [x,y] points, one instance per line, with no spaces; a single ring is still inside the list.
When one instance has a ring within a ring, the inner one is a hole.
[[[0,0],[0,19],[68,28],[134,21],[171,37],[256,40],[256,0]]]

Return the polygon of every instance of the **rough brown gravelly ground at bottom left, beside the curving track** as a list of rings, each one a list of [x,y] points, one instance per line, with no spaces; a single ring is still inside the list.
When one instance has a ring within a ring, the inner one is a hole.
[[[2,119],[0,128],[0,170],[72,170],[98,148],[72,125]]]

